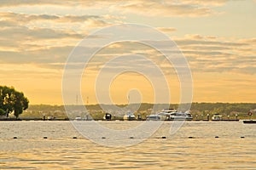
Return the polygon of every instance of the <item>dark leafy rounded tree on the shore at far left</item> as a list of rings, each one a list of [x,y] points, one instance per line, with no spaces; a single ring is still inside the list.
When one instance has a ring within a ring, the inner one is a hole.
[[[22,92],[16,91],[13,87],[0,86],[0,110],[3,110],[7,117],[14,111],[18,118],[28,108],[28,103]]]

